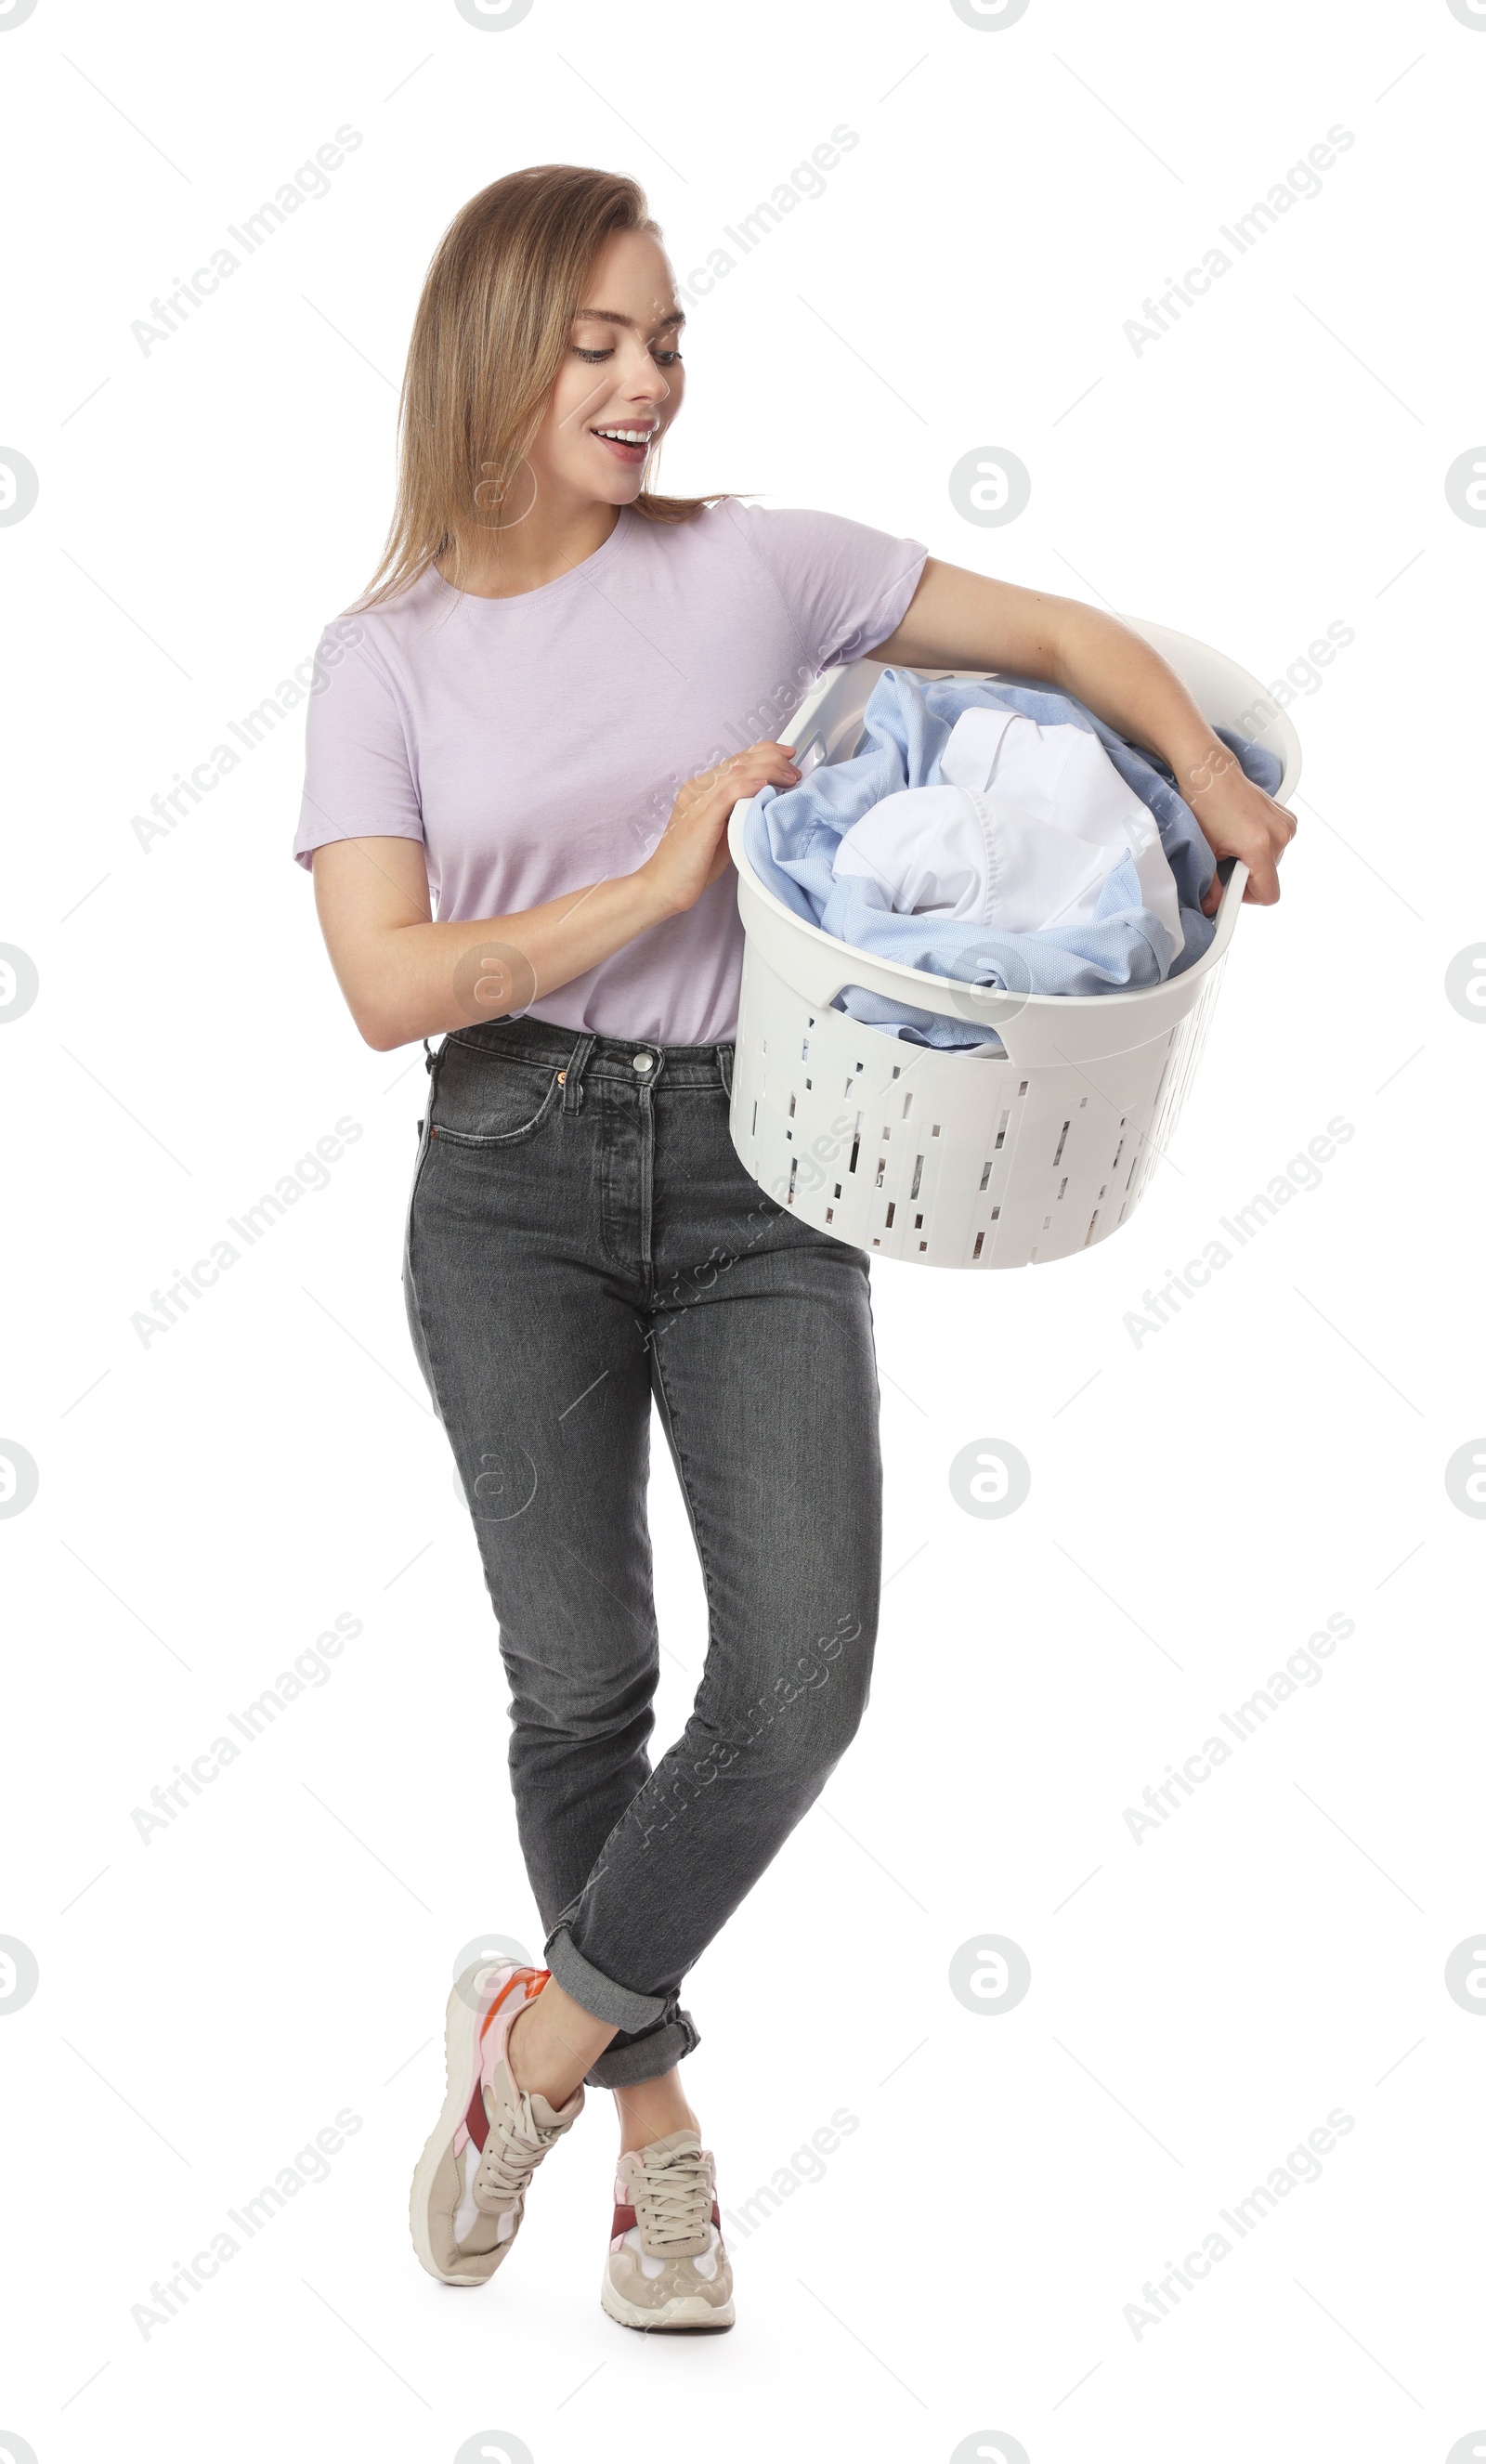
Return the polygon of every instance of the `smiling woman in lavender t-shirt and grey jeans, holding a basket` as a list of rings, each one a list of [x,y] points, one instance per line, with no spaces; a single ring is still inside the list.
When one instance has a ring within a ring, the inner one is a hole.
[[[867,1259],[764,1198],[727,1131],[732,806],[796,784],[776,737],[808,680],[870,653],[1074,692],[1166,756],[1249,899],[1279,897],[1294,828],[1114,618],[835,515],[656,495],[680,328],[633,180],[522,170],[456,214],[387,557],[325,633],[296,840],[362,1037],[444,1035],[404,1286],[500,1626],[545,1927],[545,1969],[483,1961],[449,2001],[414,2245],[485,2282],[584,2085],[611,2087],[601,2299],[636,2328],[732,2326],[678,1996],[845,1752],[877,1621]],[[656,1767],[653,1402],[710,1611]],[[456,1708],[461,1786],[493,1725],[495,1700]]]

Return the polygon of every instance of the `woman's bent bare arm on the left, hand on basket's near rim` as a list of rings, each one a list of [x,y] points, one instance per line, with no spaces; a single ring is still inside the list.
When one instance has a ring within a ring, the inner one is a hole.
[[[683,786],[658,845],[633,872],[466,924],[431,922],[421,840],[333,838],[315,848],[320,931],[362,1040],[392,1052],[419,1035],[527,1010],[587,976],[720,880],[734,803],[796,781],[789,744],[752,744]]]

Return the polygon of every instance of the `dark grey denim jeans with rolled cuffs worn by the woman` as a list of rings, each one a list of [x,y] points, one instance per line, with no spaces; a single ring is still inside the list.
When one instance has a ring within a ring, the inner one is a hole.
[[[619,2087],[697,2043],[683,1979],[867,1700],[882,1562],[867,1257],[742,1168],[732,1045],[520,1018],[456,1030],[429,1069],[409,1328],[500,1629],[545,1956],[619,2028],[589,2072]],[[656,1767],[651,1400],[710,1621],[695,1708]]]

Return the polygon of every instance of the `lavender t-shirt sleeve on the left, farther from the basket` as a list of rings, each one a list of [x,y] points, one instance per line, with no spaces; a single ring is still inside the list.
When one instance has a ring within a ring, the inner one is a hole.
[[[325,626],[306,712],[296,862],[313,870],[315,848],[333,838],[421,835],[424,816],[397,692],[367,653],[365,633],[345,621]]]

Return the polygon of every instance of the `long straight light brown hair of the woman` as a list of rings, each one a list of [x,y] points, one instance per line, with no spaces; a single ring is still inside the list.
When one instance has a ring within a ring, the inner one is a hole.
[[[611,232],[651,232],[646,195],[619,172],[542,163],[458,209],[424,278],[399,404],[397,505],[357,609],[412,589],[434,559],[461,586],[557,382],[594,256]],[[651,463],[653,468],[653,463]],[[656,495],[648,522],[690,522],[720,495]]]

